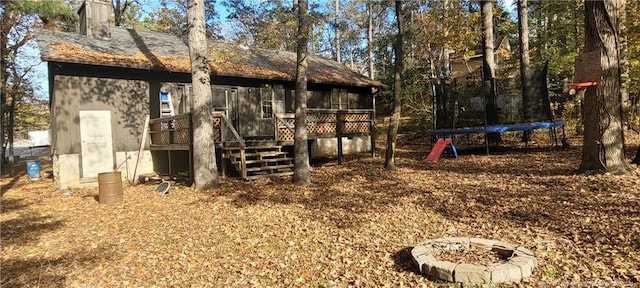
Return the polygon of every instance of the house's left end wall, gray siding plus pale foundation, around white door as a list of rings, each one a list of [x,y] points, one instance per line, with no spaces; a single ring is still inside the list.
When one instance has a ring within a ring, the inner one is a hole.
[[[52,130],[55,133],[52,133],[52,150],[56,187],[90,186],[84,182],[91,180],[97,185],[95,178],[81,179],[80,111],[111,111],[114,151],[111,166],[115,169],[124,161],[124,156],[120,156],[122,153],[137,154],[140,148],[144,119],[149,114],[149,84],[141,80],[66,75],[55,75],[53,80]],[[148,169],[151,165],[145,162],[150,161],[150,157],[144,159],[139,164],[140,173],[152,172]],[[129,167],[130,161],[127,162]],[[123,175],[127,175],[126,172]],[[133,170],[129,174],[132,173]]]

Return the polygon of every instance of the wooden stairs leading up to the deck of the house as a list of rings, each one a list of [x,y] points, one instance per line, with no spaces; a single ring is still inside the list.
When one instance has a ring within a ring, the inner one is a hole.
[[[252,145],[222,148],[223,158],[245,180],[293,175],[293,158],[278,145]]]

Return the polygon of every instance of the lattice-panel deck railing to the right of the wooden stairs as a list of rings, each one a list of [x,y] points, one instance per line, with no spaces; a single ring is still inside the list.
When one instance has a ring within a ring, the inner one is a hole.
[[[307,110],[307,135],[310,138],[370,135],[374,127],[374,111],[358,110]],[[294,114],[275,117],[275,133],[278,141],[293,141]]]

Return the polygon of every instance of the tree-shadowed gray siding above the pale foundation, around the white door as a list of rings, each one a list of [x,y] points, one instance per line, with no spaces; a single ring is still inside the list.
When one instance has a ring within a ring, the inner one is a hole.
[[[54,77],[55,154],[80,153],[81,110],[111,111],[113,149],[140,148],[144,118],[149,114],[149,85],[139,80]]]

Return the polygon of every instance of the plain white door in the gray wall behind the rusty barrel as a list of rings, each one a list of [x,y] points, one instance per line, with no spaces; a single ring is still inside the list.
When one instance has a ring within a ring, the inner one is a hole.
[[[82,178],[113,171],[111,111],[80,111]]]

